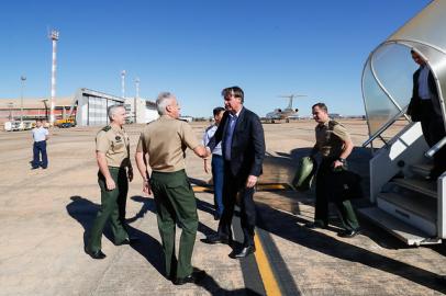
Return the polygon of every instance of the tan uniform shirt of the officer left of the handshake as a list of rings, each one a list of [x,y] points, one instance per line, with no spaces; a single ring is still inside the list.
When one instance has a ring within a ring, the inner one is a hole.
[[[96,150],[105,153],[109,167],[129,167],[130,138],[124,128],[111,125],[102,128],[96,136]]]

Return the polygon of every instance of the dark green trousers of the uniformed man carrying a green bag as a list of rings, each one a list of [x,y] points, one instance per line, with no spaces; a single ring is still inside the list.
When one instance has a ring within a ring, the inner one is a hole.
[[[336,158],[324,158],[319,166],[316,174],[316,205],[314,220],[320,221],[323,225],[328,225],[328,202],[334,200],[341,214],[341,221],[345,229],[356,230],[359,228],[359,223],[356,218],[350,201],[342,201],[342,198],[330,198],[328,179],[333,174],[333,161]]]

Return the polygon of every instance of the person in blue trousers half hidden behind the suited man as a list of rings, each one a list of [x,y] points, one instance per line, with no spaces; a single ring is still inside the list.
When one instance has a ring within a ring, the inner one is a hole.
[[[214,136],[220,122],[222,121],[224,113],[224,107],[215,107],[213,110],[214,124],[207,128],[203,136],[204,146],[209,144],[209,140]],[[204,159],[204,171],[209,173],[209,160]],[[212,181],[214,184],[214,206],[215,214],[214,219],[220,220],[223,215],[223,177],[224,177],[224,160],[222,156],[222,145],[219,143],[218,146],[212,150]]]

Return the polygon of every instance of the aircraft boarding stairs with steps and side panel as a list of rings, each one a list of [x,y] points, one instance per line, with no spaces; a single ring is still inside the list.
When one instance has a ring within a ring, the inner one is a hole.
[[[364,217],[409,246],[439,243],[444,234],[444,183],[427,181],[432,161],[424,157],[426,145],[414,125],[397,135],[370,161],[372,207],[359,208]],[[416,140],[408,140],[414,137]],[[398,149],[404,143],[404,148]],[[398,156],[395,156],[398,150]]]

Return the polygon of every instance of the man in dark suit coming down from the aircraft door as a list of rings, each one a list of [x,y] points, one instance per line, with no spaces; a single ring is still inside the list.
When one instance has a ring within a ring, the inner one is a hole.
[[[413,73],[413,92],[408,114],[413,122],[421,122],[424,139],[428,147],[433,147],[446,136],[438,91],[426,61],[414,50],[411,50],[411,54],[420,68]],[[446,145],[434,155],[434,168],[426,179],[435,181],[444,171]]]

